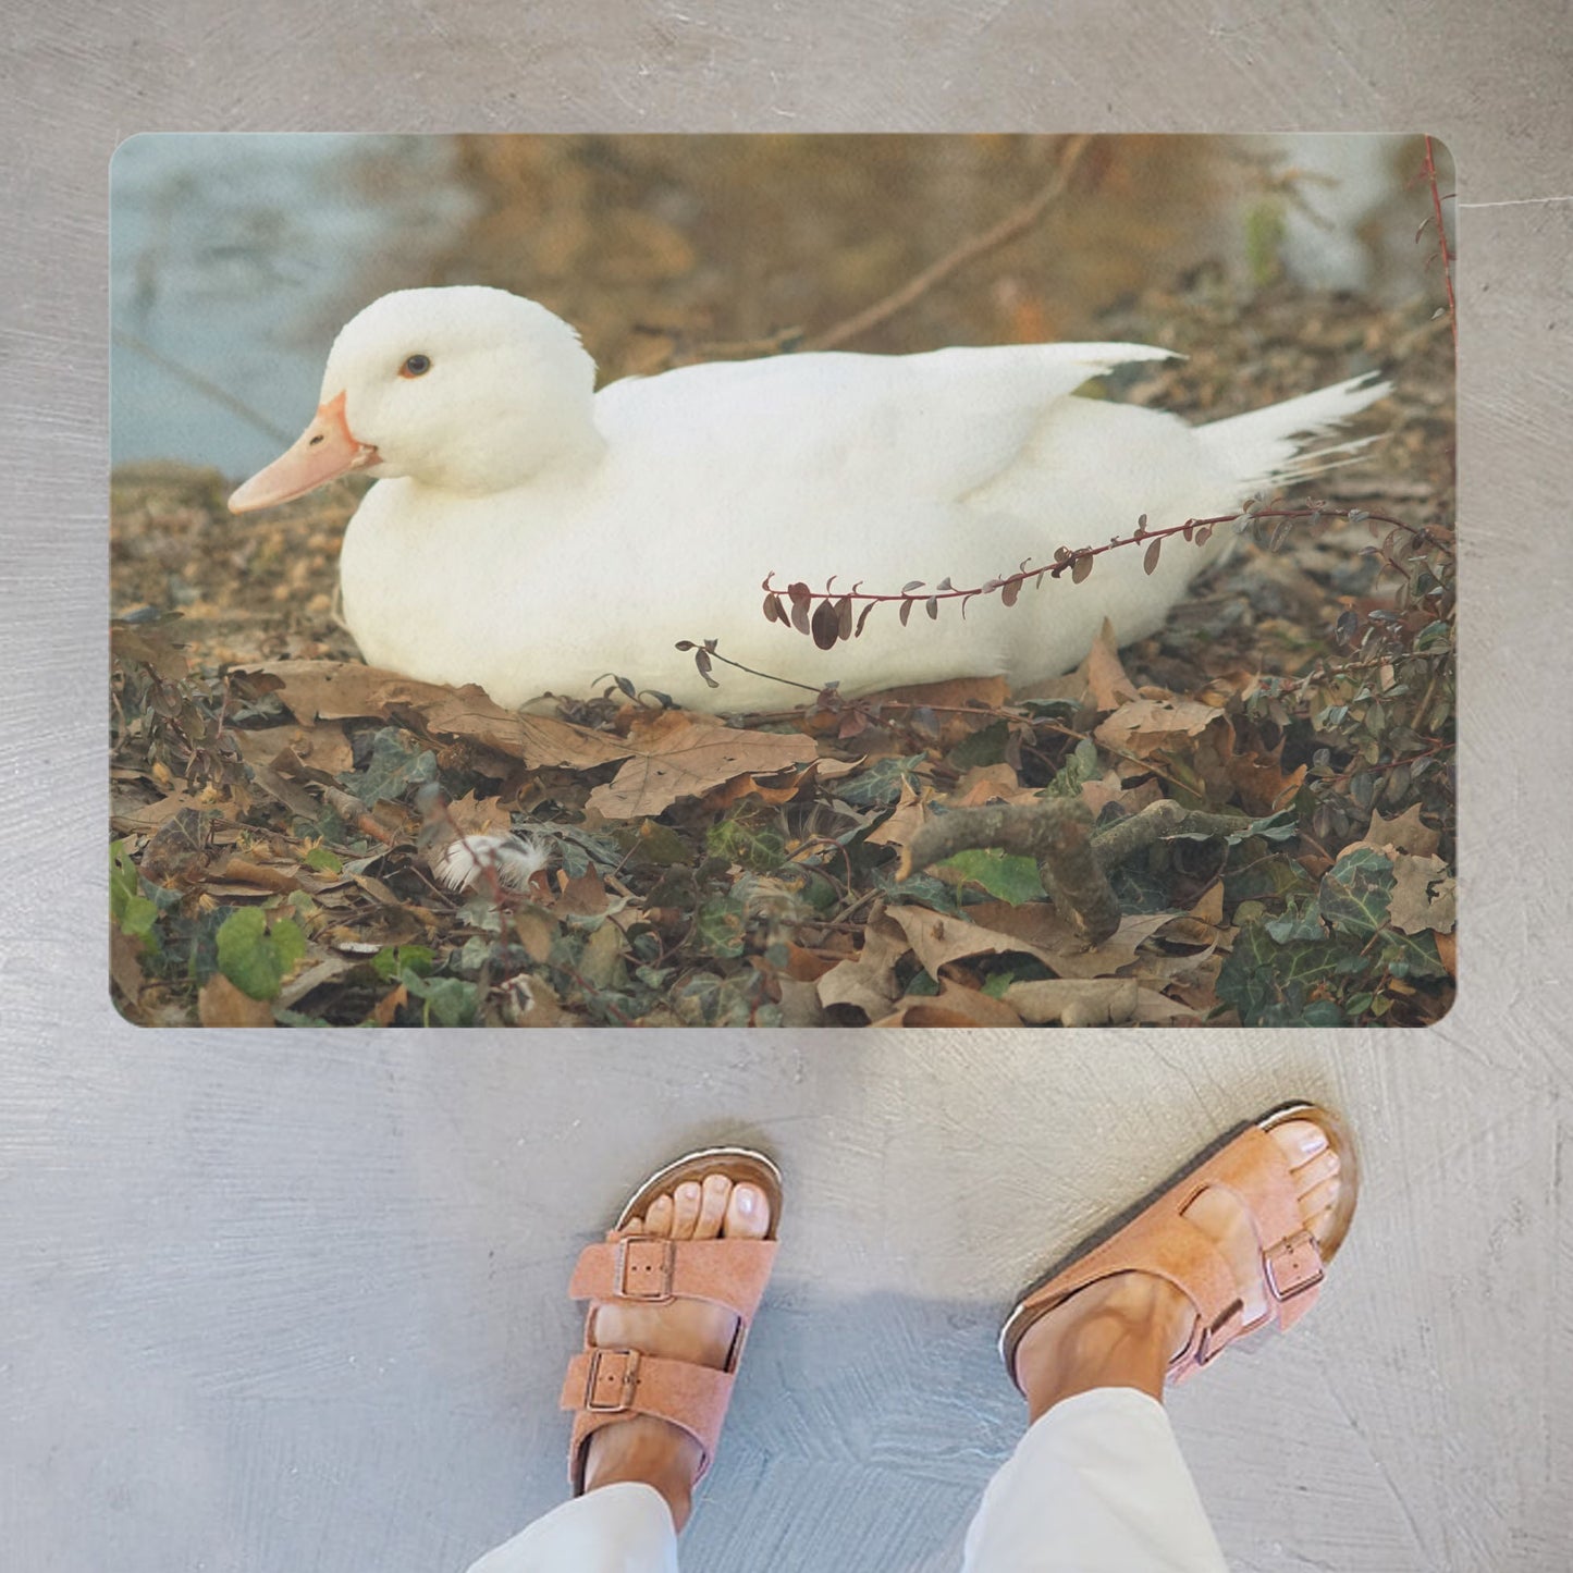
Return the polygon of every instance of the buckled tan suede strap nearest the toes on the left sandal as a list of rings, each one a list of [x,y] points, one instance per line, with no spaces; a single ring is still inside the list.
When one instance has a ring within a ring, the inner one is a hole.
[[[579,1254],[568,1293],[645,1306],[705,1299],[747,1324],[760,1309],[775,1249],[774,1240],[665,1240],[613,1230]]]

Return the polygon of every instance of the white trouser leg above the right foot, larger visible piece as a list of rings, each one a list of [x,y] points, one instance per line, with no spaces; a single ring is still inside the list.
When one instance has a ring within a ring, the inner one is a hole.
[[[963,1573],[1225,1573],[1169,1416],[1134,1387],[1054,1405],[983,1493]]]

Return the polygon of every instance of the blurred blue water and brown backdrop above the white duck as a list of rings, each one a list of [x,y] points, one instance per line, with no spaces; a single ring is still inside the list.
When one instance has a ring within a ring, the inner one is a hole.
[[[535,296],[604,379],[823,330],[1029,201],[1059,148],[138,135],[110,171],[112,459],[250,473],[310,418],[337,329],[411,285]],[[848,348],[1101,337],[1111,305],[1206,267],[1246,297],[1441,300],[1420,156],[1413,137],[1096,138],[1041,223]]]

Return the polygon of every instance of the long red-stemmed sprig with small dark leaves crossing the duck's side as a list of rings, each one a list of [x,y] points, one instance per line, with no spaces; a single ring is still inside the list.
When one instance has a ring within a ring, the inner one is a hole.
[[[851,590],[838,591],[835,588],[835,574],[826,580],[823,590],[810,590],[801,579],[782,588],[775,584],[775,571],[771,569],[761,584],[764,590],[764,620],[768,623],[780,623],[783,628],[793,628],[799,634],[807,634],[821,650],[831,650],[842,640],[856,639],[862,634],[864,624],[876,606],[890,602],[900,606],[903,628],[915,606],[922,606],[930,618],[938,618],[941,601],[960,601],[961,615],[966,617],[967,602],[980,595],[997,595],[1004,606],[1015,606],[1022,587],[1029,582],[1041,588],[1044,579],[1059,579],[1068,573],[1071,584],[1082,584],[1092,573],[1095,560],[1103,557],[1104,552],[1145,544],[1147,552],[1142,568],[1151,574],[1158,568],[1164,541],[1175,535],[1183,536],[1194,546],[1205,546],[1218,527],[1232,524],[1236,533],[1241,535],[1247,530],[1257,532],[1258,540],[1265,540],[1265,544],[1271,551],[1276,551],[1282,546],[1295,524],[1309,521],[1315,527],[1323,519],[1348,519],[1350,524],[1369,524],[1373,535],[1380,533],[1380,525],[1387,525],[1389,530],[1409,535],[1416,543],[1436,547],[1449,557],[1452,555],[1452,547],[1442,536],[1435,535],[1424,525],[1409,524],[1405,519],[1394,519],[1383,513],[1369,513],[1364,508],[1334,508],[1326,502],[1284,503],[1282,499],[1269,500],[1265,495],[1258,495],[1238,513],[1216,514],[1208,519],[1186,519],[1183,524],[1167,524],[1156,530],[1147,527],[1147,514],[1144,513],[1136,521],[1136,530],[1131,535],[1115,535],[1109,540],[1107,546],[1081,546],[1074,551],[1060,546],[1054,552],[1052,563],[1041,563],[1033,568],[1029,558],[1011,574],[1002,574],[997,579],[988,579],[980,585],[967,588],[956,588],[947,576],[933,587],[922,579],[911,579],[900,590],[889,593],[864,590],[859,579]],[[1269,525],[1271,535],[1265,536]],[[859,604],[862,606],[862,612],[854,618],[853,609]]]

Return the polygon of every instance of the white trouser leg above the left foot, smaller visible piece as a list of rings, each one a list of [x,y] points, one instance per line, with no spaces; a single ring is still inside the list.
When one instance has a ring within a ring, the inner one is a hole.
[[[470,1573],[678,1573],[672,1510],[654,1486],[598,1486],[488,1551]]]

